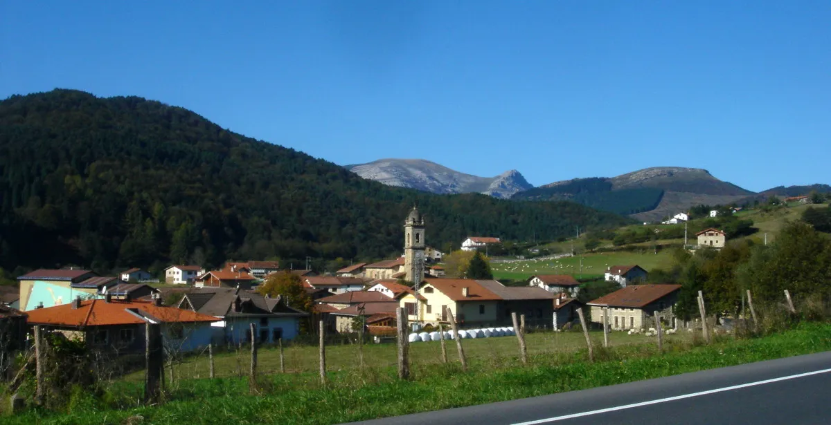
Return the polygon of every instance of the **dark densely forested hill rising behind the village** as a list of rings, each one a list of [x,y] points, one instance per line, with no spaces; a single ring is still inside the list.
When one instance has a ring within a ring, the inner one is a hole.
[[[182,108],[76,90],[0,102],[0,266],[396,255],[416,203],[428,243],[559,237],[627,219],[576,203],[390,188]],[[299,263],[296,263],[299,264]]]

